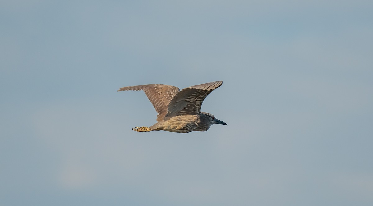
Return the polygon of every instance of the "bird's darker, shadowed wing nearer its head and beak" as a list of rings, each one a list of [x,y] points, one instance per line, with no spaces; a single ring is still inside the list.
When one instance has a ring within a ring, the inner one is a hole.
[[[165,118],[177,115],[195,115],[201,112],[203,100],[222,84],[222,81],[217,81],[182,89],[170,101]]]

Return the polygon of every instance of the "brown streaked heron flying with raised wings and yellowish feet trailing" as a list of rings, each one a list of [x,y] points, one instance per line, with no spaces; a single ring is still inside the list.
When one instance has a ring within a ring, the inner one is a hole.
[[[214,115],[201,112],[203,100],[223,81],[209,82],[184,88],[166,84],[144,84],[122,87],[118,91],[144,91],[156,109],[157,123],[150,127],[135,127],[137,132],[168,131],[188,133],[207,131],[213,124],[227,125],[216,119]]]

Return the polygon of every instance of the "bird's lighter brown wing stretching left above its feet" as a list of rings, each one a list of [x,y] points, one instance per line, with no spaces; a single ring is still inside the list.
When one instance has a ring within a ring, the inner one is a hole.
[[[178,87],[166,85],[166,84],[144,84],[133,87],[122,87],[118,91],[140,91],[143,90],[156,109],[157,122],[163,120],[164,116],[167,113],[167,107],[172,98],[177,94],[180,89]]]

